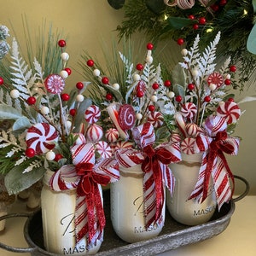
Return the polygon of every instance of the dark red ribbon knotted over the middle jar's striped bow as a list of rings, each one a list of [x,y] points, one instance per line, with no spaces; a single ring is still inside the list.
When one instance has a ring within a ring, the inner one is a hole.
[[[172,162],[173,155],[166,148],[154,149],[151,145],[143,148],[143,152],[146,154],[146,157],[142,163],[142,170],[145,173],[153,172],[153,175],[146,182],[144,181],[143,189],[147,190],[150,184],[154,183],[156,197],[154,217],[147,221],[146,228],[148,228],[150,224],[157,222],[161,218],[161,212],[165,201],[163,175],[160,162],[164,165],[169,165]],[[146,217],[147,216],[148,207],[146,208]]]

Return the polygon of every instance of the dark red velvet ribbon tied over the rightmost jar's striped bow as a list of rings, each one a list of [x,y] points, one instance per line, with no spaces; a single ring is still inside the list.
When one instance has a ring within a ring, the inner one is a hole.
[[[202,201],[205,201],[207,198],[211,172],[213,169],[214,160],[217,156],[222,160],[224,167],[226,168],[226,170],[232,180],[232,183],[233,184],[235,183],[233,173],[231,172],[228,162],[224,156],[224,153],[232,154],[235,149],[233,145],[225,142],[227,137],[228,137],[228,134],[226,131],[218,131],[215,139],[212,141],[212,143],[210,143],[209,152],[207,154],[207,168],[206,168],[206,172],[205,172],[205,176],[204,176]],[[231,195],[233,195],[233,193],[234,193],[234,186],[232,188]]]

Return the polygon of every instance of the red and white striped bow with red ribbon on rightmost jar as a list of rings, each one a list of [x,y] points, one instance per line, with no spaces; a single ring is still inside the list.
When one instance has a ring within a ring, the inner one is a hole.
[[[218,209],[220,209],[224,202],[230,201],[234,192],[234,176],[224,153],[237,154],[239,139],[229,137],[226,131],[218,131],[216,137],[207,137],[201,134],[196,137],[196,147],[199,152],[204,153],[199,177],[189,199],[196,198],[198,201],[204,201],[209,193],[208,187],[212,176]],[[230,179],[233,185],[232,189],[230,189]]]

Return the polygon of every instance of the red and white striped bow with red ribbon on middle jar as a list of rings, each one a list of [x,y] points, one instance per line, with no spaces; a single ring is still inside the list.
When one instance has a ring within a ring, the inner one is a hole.
[[[157,148],[152,147],[154,143],[152,137],[154,136],[152,136],[151,124],[148,124],[139,125],[133,131],[136,133],[137,143],[142,147],[141,150],[120,148],[115,153],[115,158],[121,166],[129,168],[142,165],[146,228],[150,224],[161,222],[161,212],[165,201],[164,184],[172,193],[175,183],[174,176],[168,165],[181,160],[177,144],[165,144]],[[142,135],[141,137],[140,134]]]

